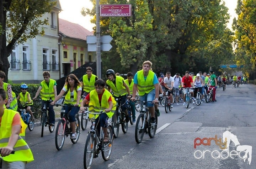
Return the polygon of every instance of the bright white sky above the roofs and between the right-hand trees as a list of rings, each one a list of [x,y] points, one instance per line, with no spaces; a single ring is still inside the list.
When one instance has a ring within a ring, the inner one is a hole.
[[[59,17],[65,19],[69,22],[77,23],[82,27],[86,28],[89,31],[93,31],[95,23],[90,22],[90,16],[82,16],[81,10],[82,7],[92,9],[92,3],[90,0],[59,0],[62,10],[59,13]],[[231,29],[233,18],[236,16],[235,8],[237,1],[236,0],[224,0],[225,6],[229,8],[228,13],[230,14],[230,20],[228,23],[228,28]],[[231,29],[232,30],[232,29]]]

